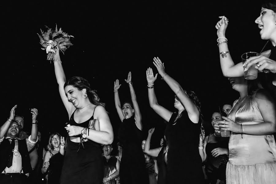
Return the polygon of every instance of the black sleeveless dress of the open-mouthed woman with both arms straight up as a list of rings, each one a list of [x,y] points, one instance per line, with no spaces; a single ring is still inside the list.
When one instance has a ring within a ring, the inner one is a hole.
[[[148,184],[148,172],[141,144],[142,131],[137,128],[134,117],[124,119],[118,133],[122,144],[122,158],[120,163],[121,184]]]

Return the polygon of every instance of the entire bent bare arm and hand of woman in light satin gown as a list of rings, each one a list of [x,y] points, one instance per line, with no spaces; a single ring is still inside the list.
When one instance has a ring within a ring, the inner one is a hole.
[[[240,125],[227,117],[222,117],[226,121],[219,121],[225,125],[219,125],[222,130],[230,130],[235,133],[250,135],[268,135],[276,132],[276,107],[273,98],[263,89],[257,91],[253,101],[257,104],[264,122],[256,122],[252,125]],[[241,123],[242,124],[242,123]],[[242,126],[242,127],[241,127]]]

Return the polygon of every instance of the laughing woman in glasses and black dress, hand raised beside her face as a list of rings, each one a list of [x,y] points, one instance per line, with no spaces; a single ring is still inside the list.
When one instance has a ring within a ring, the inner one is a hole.
[[[64,155],[64,137],[59,133],[52,133],[49,138],[44,159],[42,173],[48,171],[48,184],[59,184]]]

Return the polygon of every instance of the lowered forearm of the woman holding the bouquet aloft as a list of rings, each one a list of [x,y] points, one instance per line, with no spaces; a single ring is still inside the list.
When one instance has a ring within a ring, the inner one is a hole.
[[[87,135],[86,138],[100,144],[112,144],[113,132],[97,131],[90,129],[89,136]]]

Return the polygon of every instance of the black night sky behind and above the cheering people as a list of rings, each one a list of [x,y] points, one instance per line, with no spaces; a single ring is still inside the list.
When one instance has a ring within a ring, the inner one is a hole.
[[[50,6],[51,4],[51,6]],[[40,49],[40,28],[58,28],[75,38],[74,44],[61,54],[67,79],[81,76],[98,91],[114,130],[117,143],[119,117],[114,105],[113,82],[122,84],[121,102],[130,100],[124,79],[132,71],[132,82],[143,118],[146,138],[155,127],[153,147],[159,145],[165,123],[150,107],[145,71],[157,72],[152,61],[159,57],[167,74],[184,89],[193,90],[201,101],[204,120],[225,103],[239,97],[223,77],[217,47],[218,16],[229,19],[226,32],[233,60],[241,61],[244,52],[260,52],[261,40],[255,19],[261,6],[252,1],[193,1],[179,4],[102,3],[102,4],[9,4],[2,7],[2,116],[5,122],[10,109],[17,104],[17,114],[25,117],[25,129],[31,126],[29,108],[39,109],[39,130],[48,141],[50,132],[64,130],[68,115],[58,92],[53,63]],[[266,50],[269,49],[269,45]],[[174,94],[158,79],[155,93],[160,105],[174,111]],[[1,125],[1,124],[0,124]],[[183,133],[189,130],[183,130]]]

